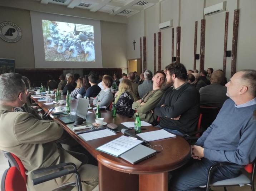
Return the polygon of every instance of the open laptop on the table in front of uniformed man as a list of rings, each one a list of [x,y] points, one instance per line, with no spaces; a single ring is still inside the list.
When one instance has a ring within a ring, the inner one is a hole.
[[[74,123],[77,118],[83,118],[84,120],[86,120],[88,107],[89,99],[79,98],[75,115],[58,117],[58,119],[65,124]]]

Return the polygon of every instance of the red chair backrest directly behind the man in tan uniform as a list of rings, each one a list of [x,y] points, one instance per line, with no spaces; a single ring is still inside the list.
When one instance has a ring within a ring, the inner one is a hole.
[[[10,166],[15,166],[20,171],[20,174],[23,177],[23,180],[26,184],[27,182],[26,169],[22,164],[21,160],[12,153],[4,152],[4,155],[8,159]]]

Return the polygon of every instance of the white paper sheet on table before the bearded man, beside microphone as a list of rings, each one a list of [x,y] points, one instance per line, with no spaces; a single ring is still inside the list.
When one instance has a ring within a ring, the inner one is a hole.
[[[155,141],[159,139],[166,139],[170,137],[175,137],[176,135],[167,132],[166,130],[156,130],[156,131],[149,131],[146,133],[137,133],[139,137],[146,141]]]

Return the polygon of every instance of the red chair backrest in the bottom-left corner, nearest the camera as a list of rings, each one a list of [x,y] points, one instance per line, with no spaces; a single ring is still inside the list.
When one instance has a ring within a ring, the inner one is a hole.
[[[26,183],[24,182],[20,171],[15,166],[11,166],[9,169],[6,169],[1,181],[1,191],[26,190]]]

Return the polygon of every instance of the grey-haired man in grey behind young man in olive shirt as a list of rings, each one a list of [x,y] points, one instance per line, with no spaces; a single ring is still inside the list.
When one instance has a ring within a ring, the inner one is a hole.
[[[138,86],[138,97],[142,98],[146,95],[147,92],[152,91],[153,89],[153,81],[152,81],[153,74],[152,72],[147,69],[144,72],[144,82],[143,84]]]

